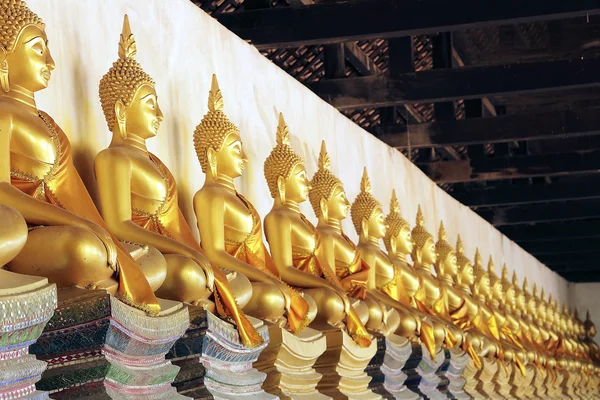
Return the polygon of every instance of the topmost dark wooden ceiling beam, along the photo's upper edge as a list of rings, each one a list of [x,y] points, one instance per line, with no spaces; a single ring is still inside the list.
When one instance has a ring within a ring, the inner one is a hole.
[[[296,1],[295,3],[299,3]],[[599,0],[345,0],[217,15],[259,49],[435,34],[600,14]],[[435,10],[435,12],[432,12]]]

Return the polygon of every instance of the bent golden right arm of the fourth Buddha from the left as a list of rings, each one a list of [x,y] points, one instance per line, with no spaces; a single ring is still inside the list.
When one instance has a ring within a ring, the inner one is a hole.
[[[336,288],[325,279],[294,267],[291,231],[292,226],[287,216],[271,212],[265,218],[265,235],[281,279],[301,288],[327,288],[337,292]]]

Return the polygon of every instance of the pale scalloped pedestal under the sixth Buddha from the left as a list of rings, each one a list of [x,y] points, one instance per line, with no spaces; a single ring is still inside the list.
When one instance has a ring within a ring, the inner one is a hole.
[[[385,375],[384,386],[395,399],[414,399],[419,395],[406,387],[408,376],[402,370],[412,353],[412,343],[401,336],[390,335],[386,338],[386,350],[381,371]]]

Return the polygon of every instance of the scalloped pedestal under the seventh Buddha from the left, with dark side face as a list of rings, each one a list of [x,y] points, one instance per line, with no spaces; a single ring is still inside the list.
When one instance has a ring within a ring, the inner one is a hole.
[[[404,367],[404,373],[408,377],[405,381],[406,387],[420,397],[447,399],[447,396],[438,389],[441,379],[437,374],[445,358],[442,349],[436,354],[435,360],[432,360],[423,344],[413,343],[411,355]]]

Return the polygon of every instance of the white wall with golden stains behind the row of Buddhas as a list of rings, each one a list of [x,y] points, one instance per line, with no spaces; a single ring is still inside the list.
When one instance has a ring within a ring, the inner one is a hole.
[[[50,87],[38,105],[62,126],[76,150],[76,164],[94,191],[93,157],[110,141],[98,100],[98,82],[117,57],[123,14],[128,13],[137,39],[138,60],[157,82],[165,121],[149,143],[178,180],[181,207],[195,226],[191,199],[204,175],[192,144],[194,127],[207,110],[211,74],[217,73],[225,112],[242,131],[249,168],[238,189],[265,215],[272,204],[262,165],[275,142],[278,112],[283,112],[292,146],[316,170],[321,139],[332,169],[348,196],[359,191],[362,168],[369,168],[373,192],[388,210],[395,188],[407,220],[423,205],[426,224],[437,236],[444,220],[451,242],[461,234],[467,253],[479,246],[498,269],[506,262],[519,277],[537,282],[561,301],[567,283],[486,221],[439,189],[396,150],[380,142],[319,99],[302,84],[262,57],[252,46],[223,28],[189,0],[28,0],[47,23],[50,49],[57,63]],[[308,204],[305,214],[314,220]],[[348,221],[344,228],[352,238]]]

